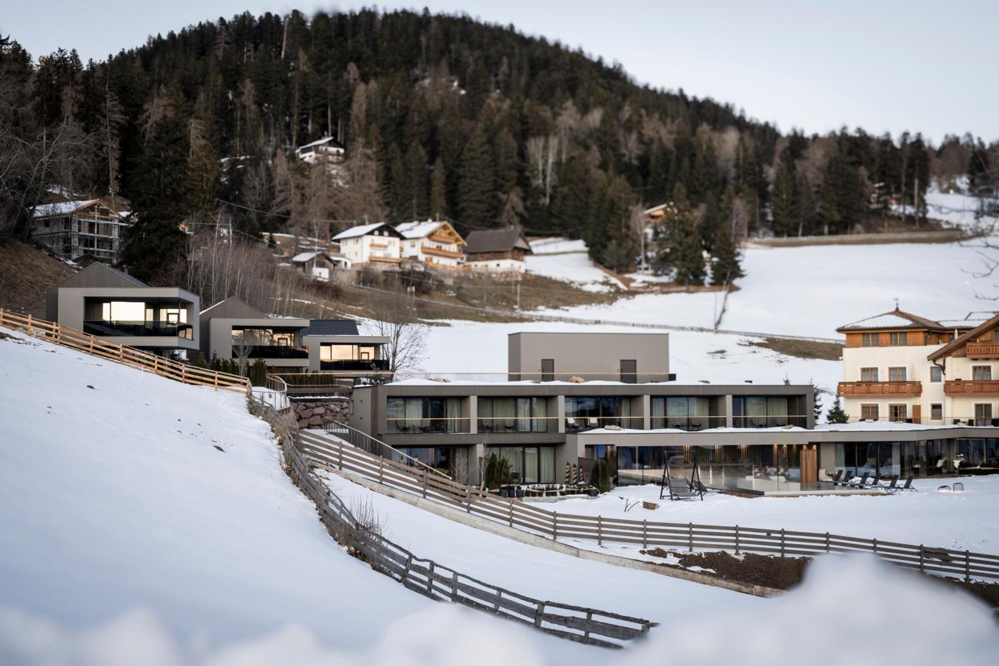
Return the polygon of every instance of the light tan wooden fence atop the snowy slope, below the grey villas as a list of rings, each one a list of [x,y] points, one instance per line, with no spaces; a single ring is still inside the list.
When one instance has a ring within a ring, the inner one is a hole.
[[[246,377],[205,370],[196,365],[172,361],[152,352],[110,342],[96,335],[83,333],[51,321],[34,319],[31,315],[24,316],[14,314],[9,310],[0,310],[0,326],[23,331],[32,337],[45,338],[48,342],[63,347],[70,347],[117,363],[141,368],[185,384],[210,386],[217,391],[237,391],[248,395],[250,393],[250,380]]]

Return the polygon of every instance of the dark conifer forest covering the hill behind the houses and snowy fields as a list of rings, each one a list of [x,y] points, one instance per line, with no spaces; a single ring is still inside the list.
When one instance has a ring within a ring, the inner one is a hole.
[[[519,224],[584,238],[622,269],[643,205],[680,202],[713,254],[717,238],[758,230],[848,231],[892,202],[918,215],[931,176],[979,189],[996,178],[999,148],[970,136],[937,148],[918,134],[781,136],[465,16],[243,14],[86,64],[71,44],[38,57],[16,38],[0,44],[0,225],[25,235],[52,184],[121,194],[138,219],[124,263],[150,279],[183,255],[179,222],[220,210],[250,234]],[[335,173],[295,159],[331,134],[348,149]]]

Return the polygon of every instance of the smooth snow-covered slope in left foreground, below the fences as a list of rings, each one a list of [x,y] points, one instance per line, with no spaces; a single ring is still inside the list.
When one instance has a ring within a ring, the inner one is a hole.
[[[239,395],[21,336],[0,339],[0,383],[2,664],[194,663],[268,640],[322,646],[329,663],[410,658],[397,634],[424,637],[411,663],[437,663],[454,631],[527,655],[592,650],[448,609],[348,556]]]

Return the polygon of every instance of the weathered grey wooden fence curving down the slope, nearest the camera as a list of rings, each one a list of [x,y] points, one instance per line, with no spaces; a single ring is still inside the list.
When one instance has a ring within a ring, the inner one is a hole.
[[[273,408],[263,404],[259,407],[268,420],[278,422]],[[289,474],[316,504],[330,532],[340,543],[352,548],[355,555],[371,563],[376,571],[410,590],[437,601],[460,603],[493,613],[560,638],[601,647],[621,647],[623,641],[639,638],[656,626],[657,623],[641,618],[533,599],[414,555],[360,523],[336,493],[310,473],[309,467],[314,462],[302,454],[301,442],[296,445],[289,441],[294,436],[282,435],[281,427],[277,430]],[[355,450],[352,446],[343,449]],[[347,455],[350,458],[351,454]],[[433,474],[428,478],[435,479]]]

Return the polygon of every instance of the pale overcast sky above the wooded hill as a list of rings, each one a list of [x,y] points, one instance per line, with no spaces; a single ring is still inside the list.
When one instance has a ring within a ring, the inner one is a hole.
[[[2,0],[0,34],[32,55],[76,48],[103,59],[201,20],[244,10],[312,14],[364,2]],[[842,125],[921,131],[938,142],[999,138],[999,1],[383,0],[513,24],[618,61],[639,83],[712,97],[781,131]],[[16,8],[15,8],[16,7]]]

